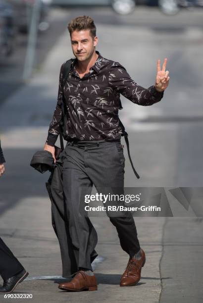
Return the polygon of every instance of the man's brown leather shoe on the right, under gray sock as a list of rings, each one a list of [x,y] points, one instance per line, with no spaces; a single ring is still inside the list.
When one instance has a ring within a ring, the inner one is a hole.
[[[142,251],[142,257],[140,260],[136,258],[131,258],[128,261],[127,267],[121,277],[120,286],[134,286],[141,278],[141,269],[145,265],[146,257],[145,252]]]

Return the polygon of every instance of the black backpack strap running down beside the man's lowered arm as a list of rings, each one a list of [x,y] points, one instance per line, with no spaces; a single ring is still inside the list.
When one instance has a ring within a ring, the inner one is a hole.
[[[70,66],[71,66],[71,63],[72,63],[72,59],[70,60],[67,60],[64,65],[63,65],[63,69],[62,69],[62,75],[63,75],[63,84],[62,84],[62,89],[68,79],[68,75],[70,73]],[[62,106],[61,106],[61,109],[62,109],[62,113],[63,113],[63,121],[60,122],[60,132],[59,132],[59,137],[60,137],[60,148],[61,148],[61,151],[64,150],[64,145],[63,145],[63,130],[64,130],[64,126],[65,126],[65,117],[66,117],[66,114],[67,114],[67,108],[65,106],[65,99],[64,99],[64,95],[62,96]]]

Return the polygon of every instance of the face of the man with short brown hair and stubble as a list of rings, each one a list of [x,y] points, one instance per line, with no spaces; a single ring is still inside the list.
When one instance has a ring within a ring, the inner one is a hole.
[[[93,38],[90,30],[74,31],[71,34],[71,46],[78,61],[90,59],[95,51],[98,38]]]

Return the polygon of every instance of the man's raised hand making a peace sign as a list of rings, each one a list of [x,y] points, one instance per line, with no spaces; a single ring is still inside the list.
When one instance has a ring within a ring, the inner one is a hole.
[[[169,79],[170,77],[169,75],[169,71],[165,71],[166,70],[166,63],[167,63],[167,58],[164,59],[163,65],[162,65],[162,69],[160,67],[160,60],[158,59],[157,61],[157,73],[156,73],[156,83],[155,83],[155,89],[158,92],[163,92],[169,83]]]

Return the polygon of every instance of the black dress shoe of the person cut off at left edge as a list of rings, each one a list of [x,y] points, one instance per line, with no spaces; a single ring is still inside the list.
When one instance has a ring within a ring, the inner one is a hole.
[[[29,273],[25,269],[23,269],[17,275],[12,276],[7,280],[3,281],[3,286],[0,287],[0,293],[11,293],[18,285],[18,283],[22,282],[28,275]]]

